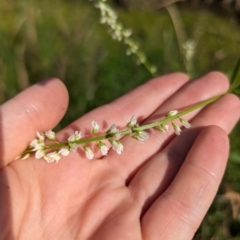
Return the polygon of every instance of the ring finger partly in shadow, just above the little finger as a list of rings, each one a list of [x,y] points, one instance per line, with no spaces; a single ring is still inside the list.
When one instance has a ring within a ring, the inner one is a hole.
[[[129,183],[132,195],[145,211],[172,182],[193,142],[204,126],[217,125],[229,133],[239,119],[239,99],[230,94],[204,108],[191,122],[192,128],[174,138],[151,158]],[[151,184],[149,184],[151,182]]]

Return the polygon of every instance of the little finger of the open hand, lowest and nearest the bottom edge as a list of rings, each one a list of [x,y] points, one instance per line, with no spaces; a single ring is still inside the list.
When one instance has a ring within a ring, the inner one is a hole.
[[[204,128],[169,188],[143,216],[143,239],[192,239],[216,194],[227,157],[226,133]]]

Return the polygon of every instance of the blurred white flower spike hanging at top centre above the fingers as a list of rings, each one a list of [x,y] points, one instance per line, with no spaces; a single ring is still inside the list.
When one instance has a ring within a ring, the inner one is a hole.
[[[147,61],[147,58],[140,50],[138,43],[130,38],[132,30],[124,28],[124,26],[118,21],[116,12],[106,3],[106,0],[96,1],[95,7],[100,10],[100,23],[108,26],[111,37],[116,41],[123,42],[127,46],[126,54],[134,54],[137,57],[137,63],[143,64],[152,75],[155,75],[157,72],[156,66]]]

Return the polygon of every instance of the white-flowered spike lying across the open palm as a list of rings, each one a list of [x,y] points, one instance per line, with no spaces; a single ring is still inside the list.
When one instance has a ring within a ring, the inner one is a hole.
[[[93,159],[94,153],[88,143],[95,142],[101,154],[105,156],[109,151],[109,144],[106,144],[105,141],[110,143],[114,151],[121,154],[124,146],[120,141],[120,137],[127,134],[130,134],[133,139],[144,143],[149,137],[146,129],[156,127],[156,129],[160,132],[167,132],[169,130],[169,125],[167,123],[171,122],[176,135],[179,135],[182,130],[180,126],[174,122],[174,120],[179,119],[180,123],[185,128],[189,128],[191,126],[187,120],[181,118],[179,115],[180,114],[177,110],[172,110],[163,120],[146,124],[144,126],[139,126],[136,117],[133,116],[126,124],[126,128],[124,130],[120,131],[117,126],[113,124],[104,135],[99,136],[96,135],[99,131],[99,125],[97,122],[92,121],[91,137],[82,138],[81,132],[75,131],[68,137],[67,142],[58,142],[56,140],[56,134],[52,130],[44,133],[37,132],[37,138],[30,142],[28,148],[18,158],[26,159],[31,153],[34,153],[36,159],[42,158],[48,163],[58,162],[61,156],[67,156],[70,152],[76,151],[79,146],[82,146],[86,157],[88,159]]]

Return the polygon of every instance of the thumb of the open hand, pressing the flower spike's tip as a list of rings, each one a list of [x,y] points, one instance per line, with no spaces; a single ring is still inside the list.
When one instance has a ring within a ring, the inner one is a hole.
[[[25,150],[36,132],[56,126],[66,112],[68,93],[61,81],[42,81],[0,108],[0,167]]]

